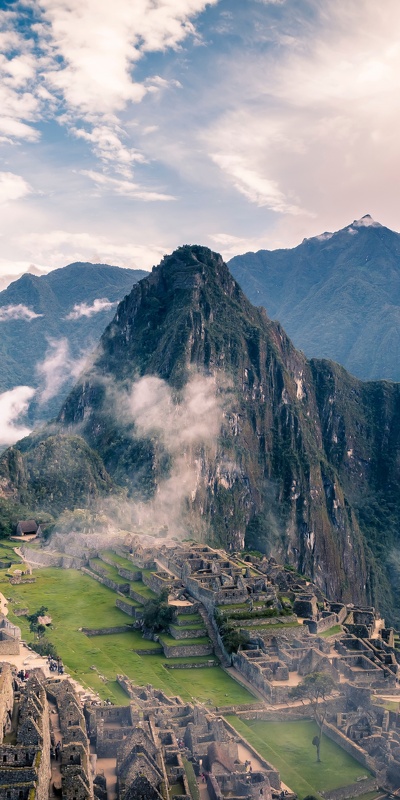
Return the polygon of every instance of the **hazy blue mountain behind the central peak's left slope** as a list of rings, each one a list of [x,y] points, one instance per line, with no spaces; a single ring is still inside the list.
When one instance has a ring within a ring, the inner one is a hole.
[[[146,274],[78,262],[13,281],[0,292],[0,392],[32,386],[42,396],[32,405],[31,421],[54,415],[76,379],[74,365],[97,344],[117,302]],[[49,354],[53,363],[38,371]]]

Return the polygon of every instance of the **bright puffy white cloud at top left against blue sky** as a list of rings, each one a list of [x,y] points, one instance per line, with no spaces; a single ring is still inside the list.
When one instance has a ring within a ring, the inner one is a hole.
[[[39,0],[42,17],[36,32],[47,57],[43,75],[50,95],[64,105],[61,120],[126,177],[132,163],[143,157],[124,143],[118,115],[148,92],[179,86],[157,75],[135,80],[135,66],[146,53],[179,47],[195,34],[191,20],[216,2]]]

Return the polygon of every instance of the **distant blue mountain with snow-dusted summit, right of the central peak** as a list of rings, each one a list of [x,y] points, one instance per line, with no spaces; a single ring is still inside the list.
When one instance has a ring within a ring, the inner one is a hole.
[[[228,266],[309,358],[333,359],[364,380],[400,380],[400,234],[366,215]]]

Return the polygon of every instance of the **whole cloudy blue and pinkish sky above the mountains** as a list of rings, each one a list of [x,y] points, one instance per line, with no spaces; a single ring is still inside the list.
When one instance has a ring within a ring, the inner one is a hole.
[[[0,0],[0,278],[398,230],[398,0]]]

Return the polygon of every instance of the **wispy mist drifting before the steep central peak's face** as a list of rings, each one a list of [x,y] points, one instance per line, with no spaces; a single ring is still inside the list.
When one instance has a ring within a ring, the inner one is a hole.
[[[95,531],[90,534],[93,538],[89,536],[92,546],[107,545],[115,537],[121,540],[127,533],[147,534],[153,540],[159,535],[184,538],[189,532],[192,535],[194,528],[197,537],[203,538],[205,523],[198,513],[191,515],[190,505],[204,481],[207,458],[215,454],[226,393],[214,377],[196,374],[179,397],[156,376],[143,377],[125,388],[108,385],[107,395],[111,413],[131,436],[154,438],[168,454],[168,475],[159,480],[150,500],[131,500],[124,495],[98,499],[88,512],[87,524],[81,525],[77,511],[66,512],[56,525],[53,545],[69,549],[77,523],[82,534]],[[70,536],[65,537],[66,533]]]

